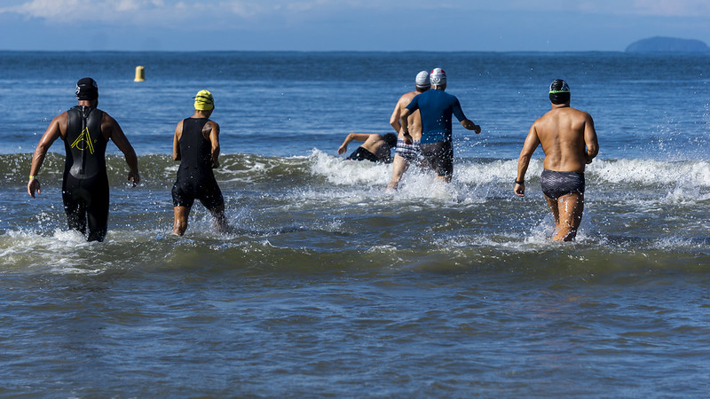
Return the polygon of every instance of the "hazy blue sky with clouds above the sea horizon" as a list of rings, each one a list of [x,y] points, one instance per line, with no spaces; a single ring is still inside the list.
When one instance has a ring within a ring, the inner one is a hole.
[[[0,50],[623,51],[708,0],[0,0]]]

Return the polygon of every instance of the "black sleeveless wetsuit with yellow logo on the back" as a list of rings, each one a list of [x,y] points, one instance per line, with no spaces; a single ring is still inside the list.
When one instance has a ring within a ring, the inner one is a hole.
[[[101,132],[103,111],[75,106],[67,111],[64,181],[61,197],[70,229],[86,233],[90,241],[103,241],[108,223],[106,138]]]

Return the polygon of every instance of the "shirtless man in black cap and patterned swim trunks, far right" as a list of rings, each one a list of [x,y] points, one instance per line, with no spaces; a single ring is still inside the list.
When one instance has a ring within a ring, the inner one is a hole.
[[[515,193],[525,196],[525,172],[538,145],[545,153],[540,185],[555,217],[556,241],[577,235],[584,210],[584,168],[599,153],[592,117],[570,107],[570,88],[562,79],[549,86],[552,110],[533,123],[517,161]]]

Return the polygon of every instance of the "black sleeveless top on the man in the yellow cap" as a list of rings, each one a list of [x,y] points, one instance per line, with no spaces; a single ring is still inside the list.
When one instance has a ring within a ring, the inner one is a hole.
[[[180,137],[180,168],[177,179],[203,179],[212,174],[212,143],[202,136],[208,118],[187,118]]]

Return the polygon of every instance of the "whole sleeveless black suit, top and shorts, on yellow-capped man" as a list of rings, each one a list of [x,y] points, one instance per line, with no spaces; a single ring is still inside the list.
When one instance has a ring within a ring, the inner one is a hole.
[[[187,118],[180,137],[180,168],[172,186],[173,207],[192,207],[195,199],[212,210],[224,205],[215,174],[212,172],[212,144],[202,136],[209,119]]]

